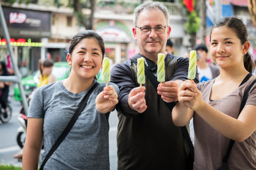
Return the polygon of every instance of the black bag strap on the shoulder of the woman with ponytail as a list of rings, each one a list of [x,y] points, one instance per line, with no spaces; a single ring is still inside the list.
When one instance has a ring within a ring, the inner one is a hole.
[[[249,73],[249,74],[250,74],[250,73]],[[249,75],[249,74],[248,74],[248,75]],[[248,75],[247,75],[246,77],[248,77]],[[251,74],[250,74],[249,76],[251,77]],[[249,78],[250,78],[250,77],[249,77]],[[248,78],[248,79],[249,79],[249,78]],[[246,79],[246,78],[245,78],[245,79]],[[243,99],[242,99],[242,102],[241,102],[241,105],[240,105],[240,109],[239,109],[238,116],[240,115],[241,111],[243,110],[243,107],[245,106],[246,100],[247,100],[248,95],[249,95],[249,91],[251,90],[251,87],[254,85],[255,82],[256,82],[256,80],[254,80],[254,81],[251,83],[251,85],[247,88],[246,92],[243,94]],[[242,83],[241,83],[241,85],[242,85]],[[229,145],[228,145],[228,150],[227,150],[227,152],[226,152],[226,155],[225,155],[224,158],[223,158],[223,163],[227,163],[227,162],[228,162],[228,157],[229,157],[229,155],[230,155],[230,152],[231,152],[231,149],[232,149],[234,143],[235,143],[235,141],[232,140],[232,139],[230,139],[230,142],[229,142]]]

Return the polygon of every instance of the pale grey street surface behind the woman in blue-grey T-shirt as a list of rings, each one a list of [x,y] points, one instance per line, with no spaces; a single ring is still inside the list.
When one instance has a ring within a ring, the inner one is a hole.
[[[13,158],[13,155],[20,150],[16,142],[17,129],[20,127],[17,116],[21,109],[21,103],[10,97],[10,106],[13,109],[13,116],[10,122],[0,122],[0,163],[22,166],[22,163]],[[118,117],[116,111],[111,112],[109,117],[109,149],[110,149],[110,170],[117,169],[117,147],[116,132]]]

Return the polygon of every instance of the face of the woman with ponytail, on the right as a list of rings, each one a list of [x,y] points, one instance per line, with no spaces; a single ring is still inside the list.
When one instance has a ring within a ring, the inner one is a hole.
[[[248,41],[242,45],[231,28],[221,26],[212,29],[210,52],[212,59],[220,67],[242,66],[243,55],[248,51],[248,45]]]

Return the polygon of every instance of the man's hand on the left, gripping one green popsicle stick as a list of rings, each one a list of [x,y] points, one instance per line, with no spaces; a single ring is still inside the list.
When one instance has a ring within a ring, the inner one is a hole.
[[[131,90],[128,97],[128,105],[135,111],[142,113],[147,109],[145,100],[146,87],[136,87]]]

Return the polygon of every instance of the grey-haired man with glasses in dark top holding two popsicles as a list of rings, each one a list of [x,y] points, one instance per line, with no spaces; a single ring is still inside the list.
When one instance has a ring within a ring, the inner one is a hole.
[[[134,11],[133,35],[139,54],[111,70],[111,81],[120,88],[118,96],[118,170],[188,170],[192,168],[189,149],[180,127],[164,102],[177,101],[177,89],[187,80],[188,58],[165,52],[171,27],[161,2],[146,2]],[[146,76],[137,82],[138,57],[156,79],[157,55],[165,54],[165,82],[155,87]],[[198,82],[198,80],[195,80]]]

